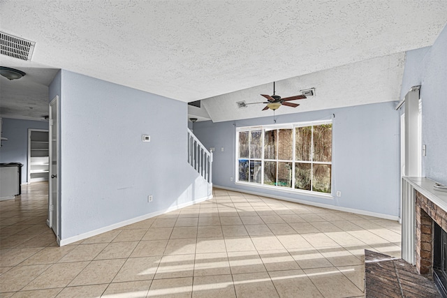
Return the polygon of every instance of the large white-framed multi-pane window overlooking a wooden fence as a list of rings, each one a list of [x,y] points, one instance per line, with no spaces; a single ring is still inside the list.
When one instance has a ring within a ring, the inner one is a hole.
[[[332,123],[237,128],[237,182],[330,194]]]

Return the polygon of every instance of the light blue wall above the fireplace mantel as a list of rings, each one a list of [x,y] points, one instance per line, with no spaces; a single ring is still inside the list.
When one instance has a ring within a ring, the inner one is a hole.
[[[401,98],[420,85],[422,99],[423,176],[447,184],[447,26],[432,47],[406,54]]]

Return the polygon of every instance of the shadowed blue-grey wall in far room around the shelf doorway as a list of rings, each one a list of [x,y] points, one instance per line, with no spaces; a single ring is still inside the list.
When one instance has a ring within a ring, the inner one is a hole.
[[[22,184],[28,182],[28,128],[48,129],[47,121],[3,118],[0,163],[22,163]]]

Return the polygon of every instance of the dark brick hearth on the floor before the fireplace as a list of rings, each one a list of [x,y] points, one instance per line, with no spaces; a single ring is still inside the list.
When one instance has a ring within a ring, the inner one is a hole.
[[[433,281],[402,259],[365,249],[365,297],[441,297]]]

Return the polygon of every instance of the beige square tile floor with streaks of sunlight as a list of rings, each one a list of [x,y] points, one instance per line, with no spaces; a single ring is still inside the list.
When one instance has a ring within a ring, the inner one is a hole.
[[[1,297],[363,297],[363,250],[400,256],[395,221],[221,189],[63,247],[46,209],[0,202]]]

